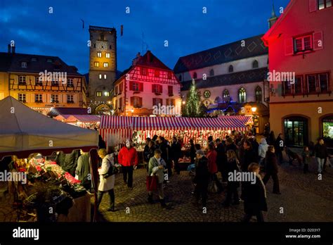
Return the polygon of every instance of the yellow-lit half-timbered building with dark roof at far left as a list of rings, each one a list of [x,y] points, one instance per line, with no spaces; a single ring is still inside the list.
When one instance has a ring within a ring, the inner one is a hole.
[[[46,115],[53,107],[86,107],[86,80],[57,56],[0,53],[0,99],[13,96]]]

